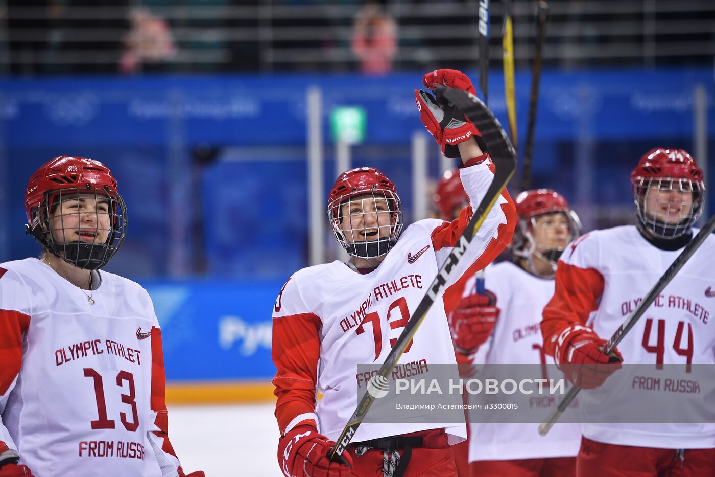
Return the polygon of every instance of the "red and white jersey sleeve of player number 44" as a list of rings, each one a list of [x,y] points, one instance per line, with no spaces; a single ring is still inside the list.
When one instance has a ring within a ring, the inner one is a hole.
[[[582,243],[583,242],[583,243]],[[598,243],[582,236],[569,245],[556,269],[556,289],[543,309],[543,349],[553,356],[556,339],[573,324],[585,325],[598,309],[603,294],[603,275],[598,271]]]

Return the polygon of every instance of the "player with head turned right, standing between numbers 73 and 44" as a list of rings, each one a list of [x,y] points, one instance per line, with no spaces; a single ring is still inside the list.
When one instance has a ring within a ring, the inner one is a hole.
[[[479,363],[551,363],[543,354],[541,312],[553,295],[556,261],[581,231],[566,198],[548,190],[516,198],[518,226],[512,261],[485,269],[486,294],[475,294],[474,279],[449,315],[455,350]],[[536,424],[472,423],[472,476],[573,476],[581,442],[577,424],[559,424],[546,438]]]

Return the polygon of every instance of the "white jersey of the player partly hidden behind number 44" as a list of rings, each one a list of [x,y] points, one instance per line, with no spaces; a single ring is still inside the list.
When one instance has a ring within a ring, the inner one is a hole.
[[[501,313],[474,361],[553,365],[553,357],[543,352],[540,326],[543,307],[553,295],[553,279],[538,278],[511,261],[490,265],[484,273],[485,288],[495,295]],[[471,279],[465,296],[473,290]],[[553,408],[558,399],[534,398],[530,404]],[[471,423],[469,436],[470,462],[573,457],[581,446],[581,425],[559,423],[542,437],[538,424]]]

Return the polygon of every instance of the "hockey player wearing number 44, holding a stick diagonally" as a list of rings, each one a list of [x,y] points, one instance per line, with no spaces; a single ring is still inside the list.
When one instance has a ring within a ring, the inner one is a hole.
[[[715,361],[715,333],[704,319],[715,312],[709,298],[715,283],[712,236],[626,334],[619,351],[610,357],[601,352],[631,307],[691,240],[704,203],[703,173],[682,149],[650,150],[633,169],[631,184],[636,225],[593,231],[568,246],[541,323],[546,353],[569,380],[590,389],[586,397],[591,406],[582,413],[597,411],[599,418],[616,409],[636,415],[661,392],[638,390],[630,381],[614,388],[609,383],[619,382],[617,360],[648,363],[638,372],[654,379],[665,372],[663,363]],[[709,386],[703,395],[712,395],[711,383],[700,384]],[[672,396],[680,413],[686,412],[686,395],[666,396]],[[715,475],[713,424],[583,423],[581,430],[578,476]]]

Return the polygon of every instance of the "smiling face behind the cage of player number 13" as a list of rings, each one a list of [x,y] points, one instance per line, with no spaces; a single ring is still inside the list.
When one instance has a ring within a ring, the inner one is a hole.
[[[104,244],[111,231],[109,198],[93,193],[61,197],[50,213],[50,230],[59,244]]]

